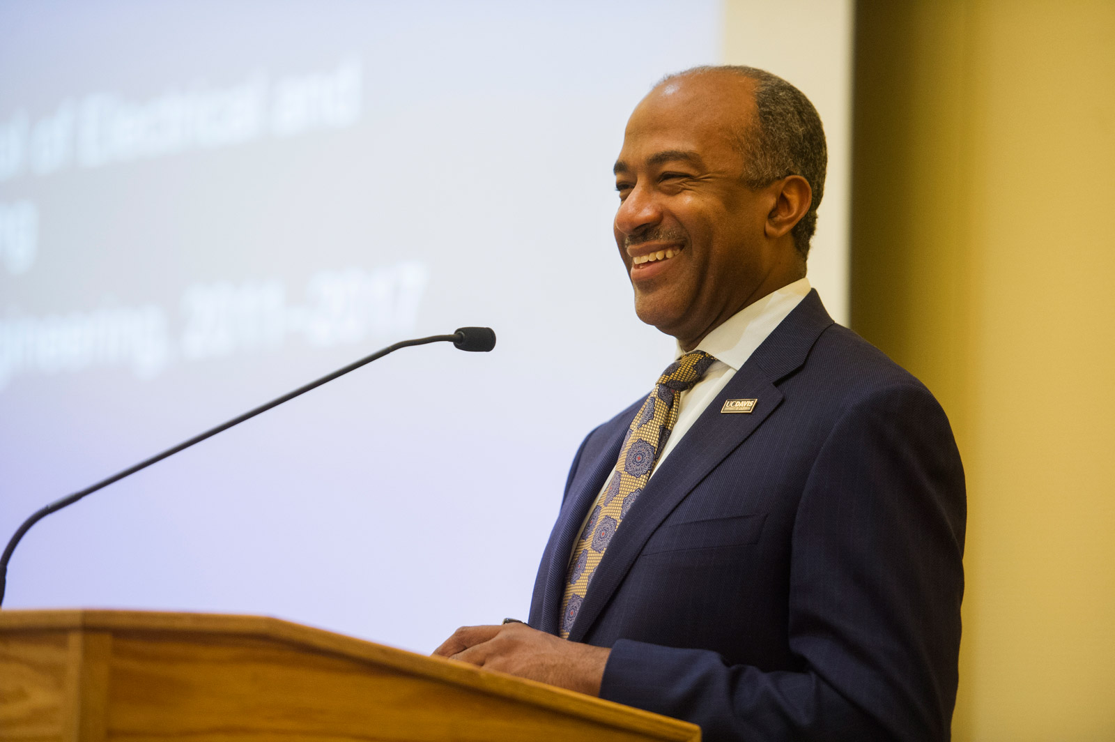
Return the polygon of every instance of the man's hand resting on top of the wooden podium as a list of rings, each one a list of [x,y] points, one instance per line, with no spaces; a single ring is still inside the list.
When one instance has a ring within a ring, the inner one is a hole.
[[[600,695],[611,649],[539,632],[526,624],[462,626],[434,654],[488,669]]]

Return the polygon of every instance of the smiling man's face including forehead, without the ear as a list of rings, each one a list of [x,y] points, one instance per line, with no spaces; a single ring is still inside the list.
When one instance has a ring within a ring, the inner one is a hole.
[[[615,243],[636,314],[686,349],[765,296],[775,264],[764,228],[776,196],[744,184],[733,139],[753,113],[740,76],[669,80],[631,114],[615,163]]]

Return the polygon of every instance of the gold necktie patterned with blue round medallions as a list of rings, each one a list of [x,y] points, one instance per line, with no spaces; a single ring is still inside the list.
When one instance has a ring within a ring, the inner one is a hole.
[[[604,549],[646,486],[655,463],[670,437],[673,423],[678,420],[678,398],[681,392],[699,382],[715,362],[716,358],[704,350],[695,350],[670,364],[628,426],[612,478],[597,498],[589,522],[584,524],[581,538],[573,547],[565,580],[565,596],[561,604],[562,638],[569,638],[569,630],[581,610],[592,575],[604,557]]]

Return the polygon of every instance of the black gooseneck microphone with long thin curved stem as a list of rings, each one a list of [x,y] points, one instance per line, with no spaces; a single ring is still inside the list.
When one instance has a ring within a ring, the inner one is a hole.
[[[23,523],[18,529],[16,529],[16,532],[12,534],[11,539],[8,541],[8,546],[3,550],[3,555],[0,556],[0,606],[3,605],[4,587],[8,581],[8,561],[11,559],[11,555],[16,550],[16,546],[19,543],[20,539],[23,538],[23,534],[26,534],[27,531],[29,531],[32,526],[35,526],[37,522],[39,522],[50,513],[57,512],[67,505],[71,505],[81,498],[86,497],[87,494],[93,494],[97,490],[106,488],[113,482],[118,482],[125,476],[130,476],[132,474],[135,474],[137,471],[147,469],[152,464],[157,463],[166,459],[167,456],[173,456],[180,451],[185,451],[195,443],[201,443],[205,439],[212,437],[222,431],[226,431],[233,425],[240,425],[245,420],[251,420],[252,417],[255,417],[260,413],[266,412],[272,407],[278,407],[284,402],[289,402],[297,396],[306,394],[310,389],[316,389],[322,384],[333,380],[338,376],[343,376],[345,374],[348,374],[351,370],[356,370],[360,366],[370,364],[372,360],[376,360],[377,358],[382,358],[389,353],[395,353],[399,348],[409,348],[410,346],[415,345],[426,345],[429,343],[443,343],[443,341],[453,343],[455,347],[462,350],[469,350],[473,353],[487,353],[488,350],[495,347],[495,333],[492,330],[491,327],[459,327],[457,328],[457,331],[454,333],[453,335],[432,335],[430,337],[424,337],[417,340],[401,340],[381,350],[377,350],[370,356],[366,356],[360,360],[351,363],[348,366],[345,366],[343,368],[338,368],[331,374],[326,374],[321,378],[310,382],[309,384],[306,384],[303,386],[300,386],[293,392],[288,392],[281,397],[272,399],[266,404],[262,404],[259,407],[255,407],[254,409],[249,409],[244,414],[237,417],[233,417],[232,420],[225,423],[221,423],[216,427],[211,427],[210,430],[205,431],[204,433],[200,433],[198,435],[195,435],[188,441],[183,441],[178,445],[172,446],[166,451],[163,451],[162,453],[156,453],[151,459],[145,459],[144,461],[140,461],[138,464],[135,464],[133,466],[129,466],[128,469],[125,469],[122,472],[113,474],[108,479],[101,480],[96,484],[91,484],[90,486],[87,486],[86,489],[79,492],[75,492],[74,494],[67,495],[61,500],[56,500],[55,502],[51,502],[50,504],[45,505],[39,510],[36,510],[33,513],[31,513],[30,518],[25,520]]]

